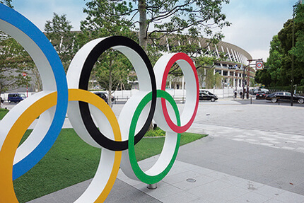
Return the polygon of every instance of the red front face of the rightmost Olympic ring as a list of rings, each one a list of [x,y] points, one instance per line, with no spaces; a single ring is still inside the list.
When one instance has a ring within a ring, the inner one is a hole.
[[[189,120],[189,122],[187,122],[187,124],[185,124],[183,126],[177,126],[175,123],[173,123],[173,121],[171,120],[171,118],[168,114],[168,109],[167,109],[167,105],[165,104],[164,98],[161,98],[161,105],[163,108],[163,115],[165,116],[165,120],[168,123],[168,126],[170,127],[170,129],[172,129],[174,132],[182,133],[182,132],[185,132],[187,129],[189,129],[189,127],[194,122],[195,116],[197,115],[197,109],[199,107],[199,77],[197,76],[197,69],[193,64],[192,59],[190,57],[188,57],[187,54],[184,54],[184,53],[174,54],[173,57],[170,58],[167,66],[165,66],[165,71],[163,74],[163,81],[161,83],[161,90],[165,91],[165,84],[166,84],[166,81],[168,78],[168,73],[169,73],[171,67],[173,66],[173,64],[175,62],[177,62],[178,60],[185,60],[186,62],[188,62],[188,64],[192,67],[192,70],[193,70],[193,73],[195,76],[195,80],[197,82],[197,102],[195,105],[194,113],[193,113],[191,119]]]

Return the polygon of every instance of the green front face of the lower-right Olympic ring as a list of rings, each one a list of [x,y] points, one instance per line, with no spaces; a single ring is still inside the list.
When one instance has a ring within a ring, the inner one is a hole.
[[[132,120],[131,120],[131,126],[130,126],[130,129],[129,129],[129,142],[128,142],[128,145],[129,145],[129,160],[130,160],[130,163],[131,163],[131,167],[132,167],[136,177],[139,178],[139,180],[141,180],[141,182],[145,182],[146,184],[154,184],[156,182],[159,182],[163,178],[165,178],[165,175],[167,175],[169,173],[170,169],[173,166],[173,163],[174,163],[175,158],[177,156],[177,151],[178,151],[179,146],[180,146],[180,133],[177,133],[177,141],[176,141],[175,151],[173,153],[173,157],[171,158],[171,161],[168,164],[168,166],[165,168],[165,170],[163,170],[163,172],[159,173],[158,175],[153,175],[153,176],[147,175],[139,167],[139,164],[137,163],[136,156],[135,156],[134,134],[135,134],[137,121],[139,120],[139,115],[141,115],[142,110],[144,110],[145,106],[149,103],[151,98],[152,98],[152,93],[150,92],[141,100],[138,107],[136,108],[136,110],[134,112],[134,115],[132,117]],[[165,98],[165,100],[168,100],[168,102],[170,103],[170,105],[172,105],[173,110],[175,112],[175,116],[177,118],[177,125],[180,126],[180,112],[178,111],[177,105],[175,103],[175,100],[173,100],[172,96],[165,91],[158,90],[157,91],[157,98]]]

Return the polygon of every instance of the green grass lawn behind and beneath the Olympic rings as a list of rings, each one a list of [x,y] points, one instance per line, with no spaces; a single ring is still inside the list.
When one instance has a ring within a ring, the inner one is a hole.
[[[30,134],[28,131],[25,137]],[[205,137],[184,133],[181,145]],[[25,139],[25,137],[23,139]],[[136,144],[138,160],[160,153],[165,138],[144,138]],[[13,181],[19,202],[42,197],[78,182],[93,178],[100,158],[100,149],[82,141],[74,129],[62,129],[52,149],[28,173]]]

